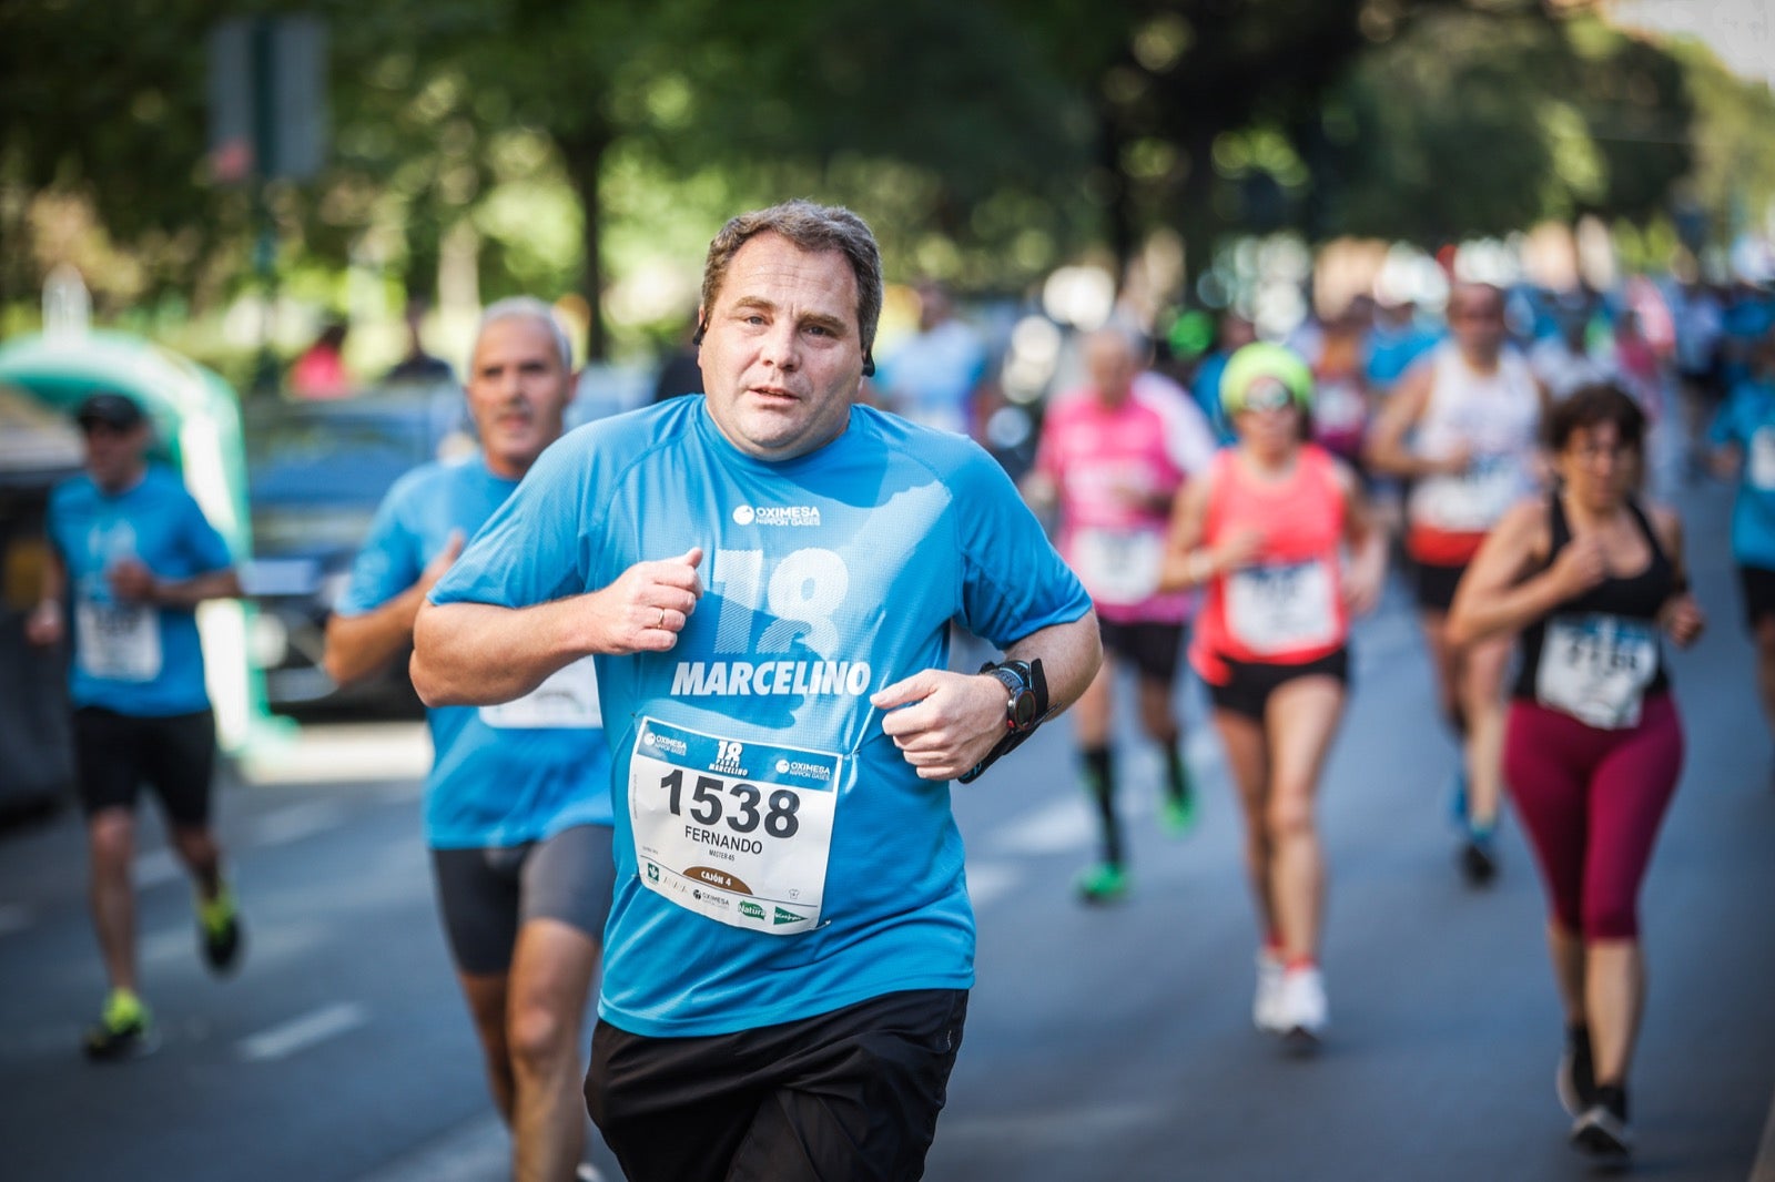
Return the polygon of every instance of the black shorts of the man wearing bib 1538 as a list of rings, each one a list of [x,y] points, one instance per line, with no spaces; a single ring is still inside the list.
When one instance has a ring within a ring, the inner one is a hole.
[[[628,1182],[903,1182],[925,1173],[966,1020],[953,989],[705,1038],[600,1020],[586,1109]]]

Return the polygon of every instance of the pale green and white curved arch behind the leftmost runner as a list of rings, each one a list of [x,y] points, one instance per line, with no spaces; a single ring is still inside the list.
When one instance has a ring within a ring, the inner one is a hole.
[[[252,559],[240,399],[220,374],[142,337],[67,330],[0,344],[0,382],[62,412],[94,390],[135,398],[154,422],[160,458],[183,476],[236,566]],[[197,612],[217,738],[231,754],[268,724],[264,687],[247,660],[248,612],[241,600],[213,600]]]

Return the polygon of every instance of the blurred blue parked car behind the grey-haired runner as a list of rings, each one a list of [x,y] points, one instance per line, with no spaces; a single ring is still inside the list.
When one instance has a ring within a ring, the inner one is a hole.
[[[327,676],[327,618],[389,486],[421,463],[470,451],[470,429],[456,385],[247,405],[254,561],[241,582],[257,607],[250,660],[273,710],[421,713],[405,660],[343,689]]]

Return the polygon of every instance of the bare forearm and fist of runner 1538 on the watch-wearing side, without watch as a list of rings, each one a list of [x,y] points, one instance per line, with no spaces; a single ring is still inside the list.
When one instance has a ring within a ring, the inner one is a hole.
[[[1102,664],[1097,612],[1031,632],[1005,657],[1042,662],[1053,717],[1077,701]],[[870,703],[886,712],[882,731],[919,779],[955,779],[1005,737],[1005,685],[990,674],[925,669],[873,694]]]

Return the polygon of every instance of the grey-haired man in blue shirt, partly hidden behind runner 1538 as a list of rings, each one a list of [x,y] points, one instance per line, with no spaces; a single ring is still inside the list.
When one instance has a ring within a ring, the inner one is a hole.
[[[561,437],[572,350],[547,303],[481,316],[467,382],[481,449],[401,477],[327,625],[327,671],[367,676],[406,651],[414,614],[463,538]],[[579,1168],[580,1026],[611,910],[611,754],[589,660],[518,701],[428,712],[437,753],[426,841],[451,955],[511,1127],[513,1177]]]

